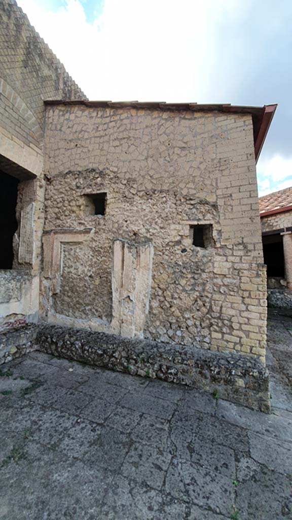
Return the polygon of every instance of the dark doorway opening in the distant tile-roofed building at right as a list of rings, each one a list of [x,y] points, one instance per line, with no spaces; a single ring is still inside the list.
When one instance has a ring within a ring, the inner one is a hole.
[[[269,278],[284,278],[285,263],[283,237],[281,235],[266,235],[262,237],[263,259],[267,266]]]

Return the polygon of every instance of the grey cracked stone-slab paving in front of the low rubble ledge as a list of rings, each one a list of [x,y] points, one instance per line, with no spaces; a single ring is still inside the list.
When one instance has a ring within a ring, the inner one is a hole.
[[[272,415],[38,352],[2,365],[1,520],[291,519],[291,318],[269,347]]]

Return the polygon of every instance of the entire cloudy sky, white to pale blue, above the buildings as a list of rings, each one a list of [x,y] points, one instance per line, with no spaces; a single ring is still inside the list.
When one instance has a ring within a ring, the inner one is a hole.
[[[89,99],[278,103],[260,194],[292,186],[291,0],[17,0]]]

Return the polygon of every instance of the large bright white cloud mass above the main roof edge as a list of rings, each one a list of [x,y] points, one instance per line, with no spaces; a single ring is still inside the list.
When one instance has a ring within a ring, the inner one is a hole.
[[[202,102],[216,24],[241,12],[239,0],[105,0],[90,24],[79,0],[18,3],[87,96],[114,100]]]

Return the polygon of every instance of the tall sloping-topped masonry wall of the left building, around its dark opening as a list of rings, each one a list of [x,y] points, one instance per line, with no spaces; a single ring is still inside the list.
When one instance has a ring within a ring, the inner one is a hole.
[[[84,94],[14,0],[0,2],[0,170],[20,179],[14,236],[17,275],[0,278],[0,293],[15,276],[23,290],[2,302],[0,327],[37,319],[41,237],[44,223],[44,99],[84,98]],[[21,271],[21,272],[20,272]],[[23,271],[23,272],[22,272]],[[9,282],[9,277],[11,278]],[[30,281],[29,281],[30,279]],[[3,295],[5,298],[5,296]],[[17,298],[20,298],[17,300]],[[34,299],[33,305],[31,304]],[[18,306],[16,309],[16,301]],[[11,303],[11,305],[10,305]],[[21,314],[21,317],[20,314]]]

